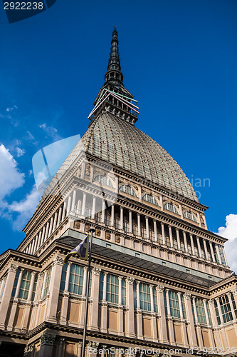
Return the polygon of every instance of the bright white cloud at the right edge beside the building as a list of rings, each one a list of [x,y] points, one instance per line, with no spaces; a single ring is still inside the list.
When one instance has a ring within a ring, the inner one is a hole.
[[[218,228],[218,234],[228,238],[225,243],[226,258],[231,269],[237,272],[237,214],[226,216],[226,226]]]

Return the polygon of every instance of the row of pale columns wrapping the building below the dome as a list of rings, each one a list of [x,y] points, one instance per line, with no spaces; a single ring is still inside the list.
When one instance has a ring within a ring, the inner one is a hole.
[[[28,244],[25,252],[35,253],[69,213],[75,217],[90,218],[128,234],[157,242],[161,246],[174,248],[189,253],[191,256],[227,266],[223,246],[214,241],[76,189],[48,219],[36,237]]]

